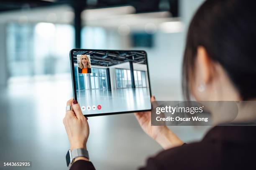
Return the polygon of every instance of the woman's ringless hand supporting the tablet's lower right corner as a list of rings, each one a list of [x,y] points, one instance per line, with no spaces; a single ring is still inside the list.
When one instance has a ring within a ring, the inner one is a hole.
[[[151,97],[151,102],[156,101],[155,97]],[[156,140],[164,149],[173,148],[183,144],[167,126],[151,126],[151,112],[134,113],[143,131]]]

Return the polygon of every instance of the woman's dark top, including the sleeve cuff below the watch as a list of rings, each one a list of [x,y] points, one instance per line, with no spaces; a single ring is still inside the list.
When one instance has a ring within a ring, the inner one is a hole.
[[[200,142],[164,150],[140,170],[241,170],[255,168],[256,128],[216,126]],[[76,161],[70,170],[95,170],[91,162]]]

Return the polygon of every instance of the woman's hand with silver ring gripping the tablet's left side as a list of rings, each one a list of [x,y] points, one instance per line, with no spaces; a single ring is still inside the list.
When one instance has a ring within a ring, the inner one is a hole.
[[[67,101],[67,105],[71,105],[73,107],[73,111],[66,111],[66,115],[63,119],[69,138],[70,150],[78,148],[86,149],[86,143],[89,137],[89,125],[87,118],[84,117],[77,100],[73,100],[72,98]]]

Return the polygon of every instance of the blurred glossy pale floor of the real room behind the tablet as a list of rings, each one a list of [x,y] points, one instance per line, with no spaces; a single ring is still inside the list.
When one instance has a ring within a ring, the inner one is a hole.
[[[32,168],[23,168],[29,170],[67,170],[69,141],[62,119],[66,101],[72,97],[69,78],[12,82],[0,94],[0,160],[32,161]],[[143,133],[133,113],[90,117],[88,121],[87,148],[98,170],[136,169],[162,150]],[[185,142],[202,138],[208,129],[170,128]]]

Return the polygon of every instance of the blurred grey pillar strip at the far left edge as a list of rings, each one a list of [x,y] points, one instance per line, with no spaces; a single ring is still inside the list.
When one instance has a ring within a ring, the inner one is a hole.
[[[0,86],[7,86],[8,67],[7,67],[7,42],[6,24],[0,24]]]

